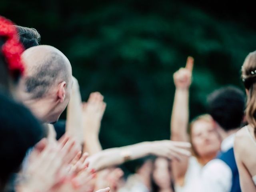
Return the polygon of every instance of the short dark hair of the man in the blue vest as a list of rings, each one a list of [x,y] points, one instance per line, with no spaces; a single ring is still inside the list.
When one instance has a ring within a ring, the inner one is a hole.
[[[240,127],[244,106],[244,92],[235,86],[220,88],[208,96],[208,112],[225,131]]]

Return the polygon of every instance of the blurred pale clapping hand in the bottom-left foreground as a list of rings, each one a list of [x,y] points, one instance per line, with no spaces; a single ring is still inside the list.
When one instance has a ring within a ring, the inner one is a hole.
[[[22,182],[18,185],[18,191],[45,191],[50,190],[54,185],[62,182],[67,174],[67,164],[64,151],[58,142],[51,141],[45,144],[42,140],[32,151],[27,169],[23,173]],[[53,143],[54,142],[54,143]],[[45,145],[44,148],[39,146]]]

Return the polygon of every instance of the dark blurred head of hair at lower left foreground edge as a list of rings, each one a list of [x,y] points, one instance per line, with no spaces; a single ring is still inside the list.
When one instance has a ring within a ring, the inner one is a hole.
[[[40,122],[22,104],[0,93],[0,190],[17,172],[29,148],[43,136]]]

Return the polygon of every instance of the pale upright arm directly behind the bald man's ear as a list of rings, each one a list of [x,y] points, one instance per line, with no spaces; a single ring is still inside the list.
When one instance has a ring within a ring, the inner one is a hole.
[[[82,99],[78,81],[74,77],[72,95],[67,107],[66,133],[75,138],[79,144],[82,144]]]

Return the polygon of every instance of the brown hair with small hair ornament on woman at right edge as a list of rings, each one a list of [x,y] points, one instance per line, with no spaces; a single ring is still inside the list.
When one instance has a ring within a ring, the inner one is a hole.
[[[254,136],[256,137],[256,51],[246,56],[242,66],[242,80],[248,90],[246,104],[246,120],[254,126]]]

